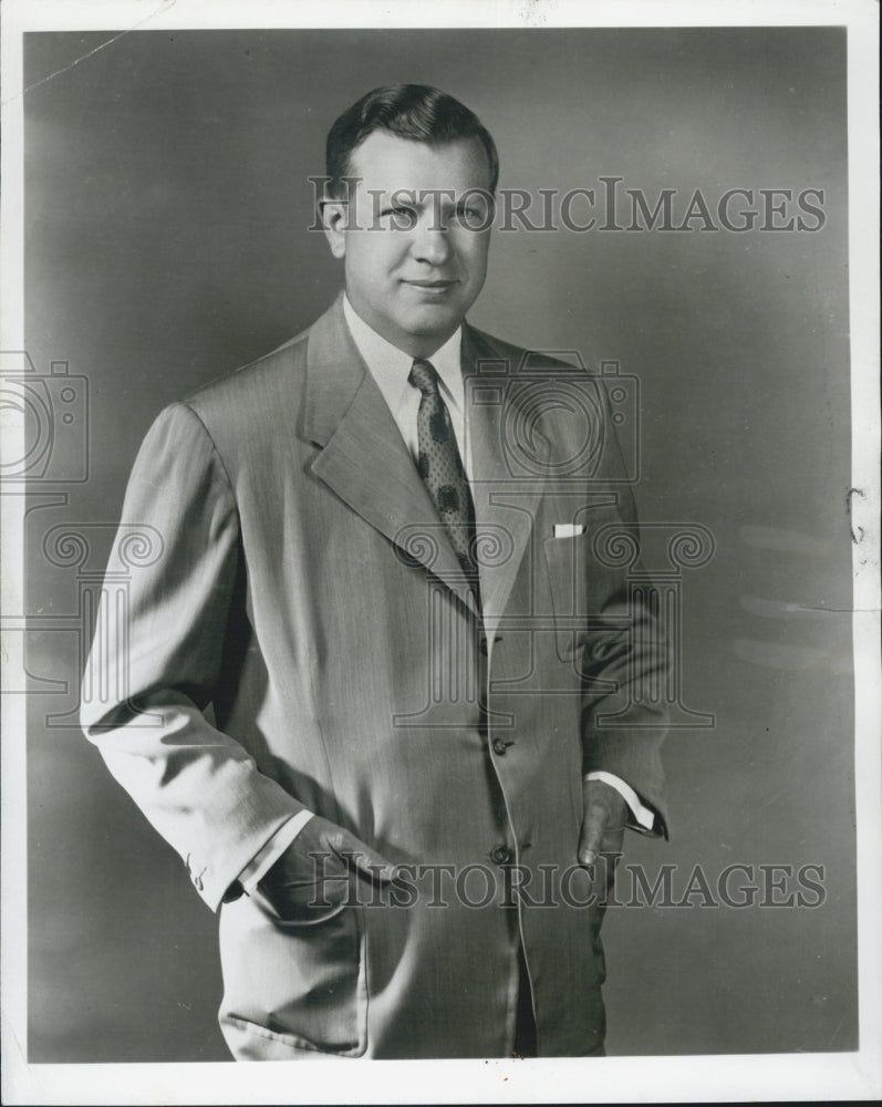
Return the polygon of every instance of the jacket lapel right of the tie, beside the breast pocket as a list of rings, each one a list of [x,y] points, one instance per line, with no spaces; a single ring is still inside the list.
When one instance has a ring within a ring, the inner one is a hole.
[[[527,476],[515,475],[506,459],[506,436],[511,436],[518,423],[523,395],[522,390],[511,387],[518,370],[513,363],[515,353],[513,350],[497,350],[469,327],[464,330],[463,373],[478,530],[481,612],[490,649],[533,534],[550,448],[541,434],[533,433],[533,466]]]

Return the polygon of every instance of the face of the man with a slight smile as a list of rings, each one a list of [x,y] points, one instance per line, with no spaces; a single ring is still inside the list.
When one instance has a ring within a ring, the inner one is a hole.
[[[487,276],[484,147],[477,138],[427,146],[375,131],[354,151],[350,175],[361,178],[350,204],[325,207],[346,294],[388,342],[428,358],[460,324]]]

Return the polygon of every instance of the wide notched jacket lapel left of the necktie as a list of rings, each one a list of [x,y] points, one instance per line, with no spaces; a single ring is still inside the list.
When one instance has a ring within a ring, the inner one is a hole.
[[[350,334],[342,296],[310,330],[302,431],[323,447],[315,476],[475,611],[435,505]]]

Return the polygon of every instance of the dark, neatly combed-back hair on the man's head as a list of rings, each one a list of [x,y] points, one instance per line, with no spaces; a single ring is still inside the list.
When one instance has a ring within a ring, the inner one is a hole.
[[[341,196],[343,177],[351,176],[351,158],[374,131],[436,145],[478,138],[490,166],[490,192],[499,179],[499,155],[489,131],[465,104],[427,84],[393,84],[374,89],[347,107],[328,133],[325,174],[328,193]]]

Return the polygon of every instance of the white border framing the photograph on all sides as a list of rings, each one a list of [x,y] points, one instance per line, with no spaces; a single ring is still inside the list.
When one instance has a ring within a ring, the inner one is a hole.
[[[882,1094],[880,720],[879,7],[873,0],[456,0],[417,8],[336,0],[6,0],[2,6],[0,349],[23,349],[22,35],[28,31],[222,28],[803,27],[848,29],[849,262],[860,1049],[854,1053],[291,1064],[29,1065],[24,705],[2,697],[2,1061],[8,1104],[624,1103],[872,1099]],[[110,40],[113,41],[113,40]],[[98,48],[102,49],[102,48]],[[76,63],[74,63],[76,64]],[[13,456],[22,427],[4,417]],[[21,607],[24,497],[0,497],[2,600]],[[8,639],[3,661],[14,665]]]

